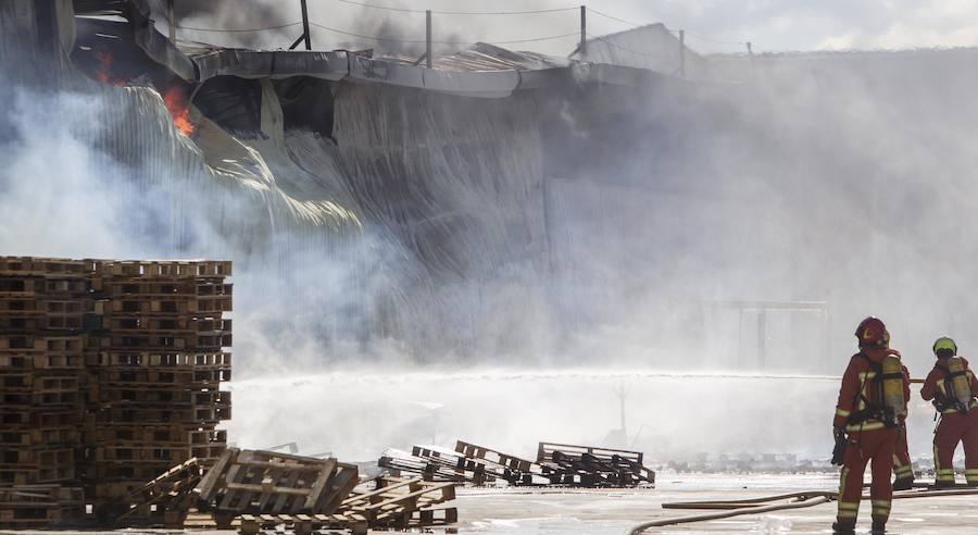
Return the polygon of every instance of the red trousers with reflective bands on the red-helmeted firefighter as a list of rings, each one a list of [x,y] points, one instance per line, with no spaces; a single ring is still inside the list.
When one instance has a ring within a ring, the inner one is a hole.
[[[849,446],[842,458],[842,473],[839,481],[839,523],[855,525],[860,515],[860,499],[863,496],[863,474],[866,464],[870,463],[873,484],[869,497],[873,501],[873,521],[886,523],[890,518],[890,502],[893,499],[893,486],[890,483],[893,468],[893,452],[900,430],[885,427],[881,430],[853,432],[849,437]]]

